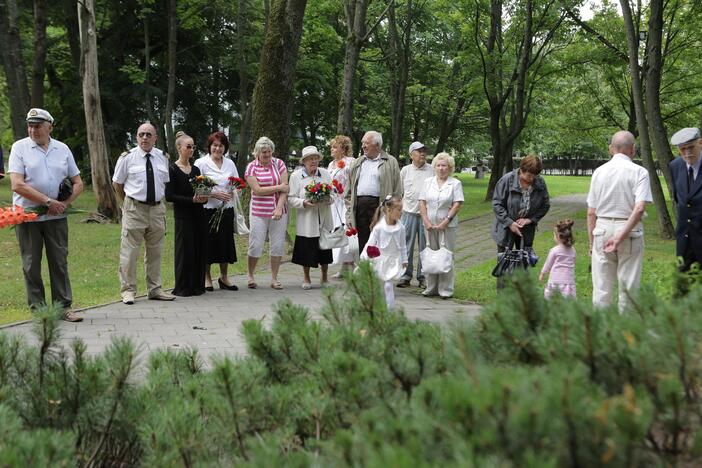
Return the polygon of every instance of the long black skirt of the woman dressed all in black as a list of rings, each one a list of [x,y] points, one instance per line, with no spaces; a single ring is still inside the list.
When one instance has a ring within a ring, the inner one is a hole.
[[[192,218],[175,219],[175,287],[176,296],[199,296],[205,292],[205,239],[207,224],[202,208],[193,210]]]

